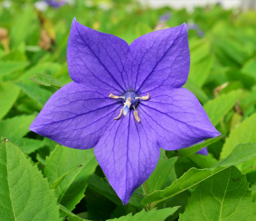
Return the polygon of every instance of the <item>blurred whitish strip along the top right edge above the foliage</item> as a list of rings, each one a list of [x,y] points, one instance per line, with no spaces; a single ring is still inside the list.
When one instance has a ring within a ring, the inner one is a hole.
[[[152,8],[170,6],[175,9],[186,8],[190,12],[197,6],[212,4],[220,4],[225,9],[240,8],[243,11],[256,9],[256,0],[139,0],[139,2]]]

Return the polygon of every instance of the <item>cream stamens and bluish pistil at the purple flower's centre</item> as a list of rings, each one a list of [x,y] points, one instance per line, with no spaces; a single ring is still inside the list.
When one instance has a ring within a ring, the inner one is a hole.
[[[147,96],[142,96],[139,97],[138,94],[136,94],[134,91],[127,91],[123,94],[123,96],[116,96],[113,94],[109,94],[109,98],[114,98],[114,99],[118,99],[118,98],[122,98],[122,103],[124,105],[124,107],[121,109],[120,114],[118,117],[114,118],[115,120],[119,119],[122,114],[124,114],[124,116],[126,116],[129,112],[129,110],[133,107],[134,112],[134,118],[136,119],[137,122],[140,122],[140,118],[138,116],[138,112],[135,109],[135,107],[138,105],[139,103],[139,99],[142,100],[147,100],[149,99],[149,93],[147,93]]]

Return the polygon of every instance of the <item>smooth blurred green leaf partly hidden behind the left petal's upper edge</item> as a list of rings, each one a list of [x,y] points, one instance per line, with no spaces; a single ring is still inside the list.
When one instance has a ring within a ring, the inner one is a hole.
[[[34,99],[41,107],[43,107],[46,101],[52,96],[52,92],[44,88],[23,83],[15,84],[17,84],[28,97]]]

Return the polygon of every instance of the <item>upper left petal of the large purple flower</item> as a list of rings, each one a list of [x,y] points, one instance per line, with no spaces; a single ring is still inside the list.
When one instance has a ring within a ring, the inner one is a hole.
[[[68,72],[78,83],[124,93],[129,45],[121,38],[83,26],[74,18],[67,49]]]

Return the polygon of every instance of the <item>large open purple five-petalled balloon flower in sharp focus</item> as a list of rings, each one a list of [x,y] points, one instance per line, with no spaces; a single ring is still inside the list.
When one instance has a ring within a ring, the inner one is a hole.
[[[155,169],[160,147],[177,150],[220,135],[181,87],[190,65],[185,23],[128,45],[74,19],[67,60],[74,82],[52,95],[30,130],[64,146],[94,146],[124,204]]]

